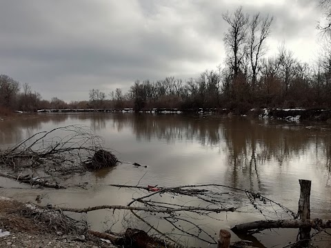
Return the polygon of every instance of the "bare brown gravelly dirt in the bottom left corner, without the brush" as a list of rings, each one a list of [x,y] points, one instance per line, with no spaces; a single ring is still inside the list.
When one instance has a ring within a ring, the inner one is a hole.
[[[26,213],[25,203],[0,197],[0,247],[114,247],[99,238],[56,231],[57,228],[51,228],[50,225],[52,223],[45,223],[38,216],[29,216]],[[3,236],[4,231],[9,231],[10,234]]]

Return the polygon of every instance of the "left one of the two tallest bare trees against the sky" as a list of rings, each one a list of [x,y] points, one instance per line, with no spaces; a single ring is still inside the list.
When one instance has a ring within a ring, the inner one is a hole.
[[[224,43],[230,53],[230,64],[233,71],[233,76],[237,77],[239,74],[241,61],[245,54],[244,47],[247,39],[247,28],[248,28],[248,14],[243,14],[243,8],[239,7],[234,14],[222,15],[223,20],[226,21],[230,28],[225,33]]]

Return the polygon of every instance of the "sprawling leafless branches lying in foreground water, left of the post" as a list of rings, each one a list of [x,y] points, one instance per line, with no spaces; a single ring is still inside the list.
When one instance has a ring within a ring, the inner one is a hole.
[[[102,205],[83,209],[52,208],[76,213],[109,209],[112,210],[112,216],[119,209],[123,218],[128,220],[128,227],[139,227],[154,238],[163,238],[180,245],[185,245],[183,242],[188,240],[197,240],[201,246],[206,243],[217,244],[214,228],[206,224],[210,223],[208,219],[221,220],[234,211],[239,214],[261,213],[269,219],[279,214],[294,215],[290,209],[260,194],[225,185],[110,186],[130,190],[134,195],[139,194],[139,197],[134,197],[127,205]]]

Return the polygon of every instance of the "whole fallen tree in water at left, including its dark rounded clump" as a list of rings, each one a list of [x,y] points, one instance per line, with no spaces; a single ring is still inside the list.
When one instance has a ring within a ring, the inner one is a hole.
[[[0,166],[8,172],[0,176],[31,185],[66,188],[56,181],[46,180],[46,177],[70,177],[90,169],[117,165],[116,156],[102,144],[102,138],[83,125],[38,132],[8,149],[0,150]]]

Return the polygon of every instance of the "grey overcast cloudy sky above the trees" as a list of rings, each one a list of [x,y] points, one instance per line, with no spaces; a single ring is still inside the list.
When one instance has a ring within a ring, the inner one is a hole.
[[[188,79],[216,69],[225,54],[221,14],[274,16],[269,54],[285,42],[301,61],[319,50],[317,0],[2,0],[0,74],[44,99],[124,92],[136,79]]]

